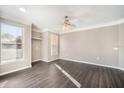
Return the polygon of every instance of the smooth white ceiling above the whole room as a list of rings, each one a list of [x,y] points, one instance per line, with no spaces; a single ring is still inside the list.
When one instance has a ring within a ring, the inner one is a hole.
[[[27,12],[20,12],[20,7],[25,7]],[[70,16],[72,22],[76,25],[73,29],[79,29],[124,18],[124,6],[0,5],[0,16],[26,24],[33,23],[43,30],[61,31],[64,16]]]

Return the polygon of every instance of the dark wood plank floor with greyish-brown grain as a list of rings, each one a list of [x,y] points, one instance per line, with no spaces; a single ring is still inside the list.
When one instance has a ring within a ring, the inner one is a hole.
[[[0,77],[5,88],[76,88],[56,66],[58,64],[83,88],[123,88],[124,71],[101,66],[56,60],[51,63],[37,62],[32,68]]]

